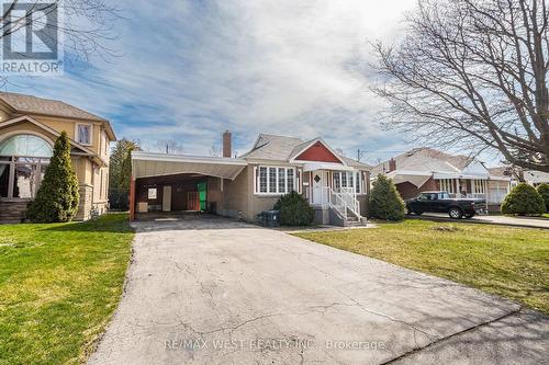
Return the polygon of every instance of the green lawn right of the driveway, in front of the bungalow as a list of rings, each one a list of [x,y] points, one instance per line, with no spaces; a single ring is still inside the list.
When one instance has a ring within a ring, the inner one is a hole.
[[[549,231],[406,220],[295,236],[497,294],[549,315]]]

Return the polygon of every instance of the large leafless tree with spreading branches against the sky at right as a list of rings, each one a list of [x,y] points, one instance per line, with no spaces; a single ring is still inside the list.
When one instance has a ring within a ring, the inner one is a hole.
[[[548,33],[545,0],[422,0],[374,44],[383,125],[549,172]]]

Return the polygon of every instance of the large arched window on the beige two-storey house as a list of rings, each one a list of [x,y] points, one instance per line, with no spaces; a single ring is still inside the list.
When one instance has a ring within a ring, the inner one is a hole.
[[[0,141],[0,198],[33,198],[52,153],[47,140],[31,134]]]

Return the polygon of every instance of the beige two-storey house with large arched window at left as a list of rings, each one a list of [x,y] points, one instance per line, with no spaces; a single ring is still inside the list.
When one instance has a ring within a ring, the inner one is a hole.
[[[65,130],[79,182],[77,219],[108,208],[109,121],[61,101],[0,92],[0,221],[21,220],[35,196],[53,146]]]

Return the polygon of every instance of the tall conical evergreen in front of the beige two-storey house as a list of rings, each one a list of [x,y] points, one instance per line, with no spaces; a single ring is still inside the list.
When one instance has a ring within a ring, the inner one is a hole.
[[[35,223],[69,221],[78,210],[78,180],[70,160],[70,142],[64,130],[55,141],[54,156],[26,208],[26,218]]]

